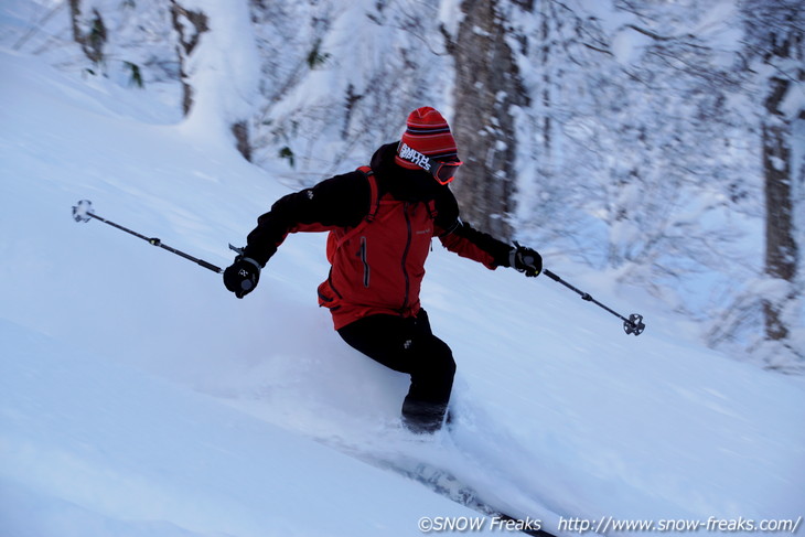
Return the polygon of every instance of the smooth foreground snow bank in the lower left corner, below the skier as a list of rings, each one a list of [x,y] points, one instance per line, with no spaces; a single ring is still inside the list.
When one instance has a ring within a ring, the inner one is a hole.
[[[470,515],[109,358],[8,321],[0,336],[3,535],[404,535]]]

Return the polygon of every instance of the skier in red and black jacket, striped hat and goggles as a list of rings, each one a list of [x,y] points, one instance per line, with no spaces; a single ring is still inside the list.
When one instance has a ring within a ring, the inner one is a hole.
[[[536,277],[543,268],[532,248],[497,240],[459,218],[448,183],[461,164],[442,115],[418,108],[401,139],[377,149],[369,167],[277,201],[224,271],[226,288],[243,298],[289,233],[330,232],[332,267],[319,286],[319,304],[330,310],[347,344],[410,375],[401,414],[417,433],[442,426],[455,373],[450,347],[433,335],[419,303],[431,239],[493,270],[514,267]]]

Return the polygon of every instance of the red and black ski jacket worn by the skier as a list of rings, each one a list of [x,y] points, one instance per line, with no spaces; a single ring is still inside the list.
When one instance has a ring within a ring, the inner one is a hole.
[[[318,291],[336,330],[378,313],[416,315],[433,237],[490,269],[508,266],[512,247],[462,223],[450,190],[394,164],[395,151],[384,146],[372,167],[280,198],[248,236],[245,255],[265,266],[289,233],[330,232],[332,268]]]

